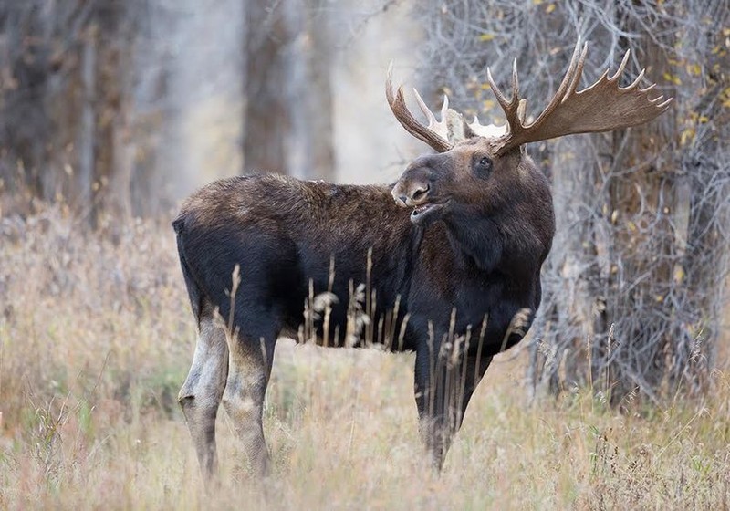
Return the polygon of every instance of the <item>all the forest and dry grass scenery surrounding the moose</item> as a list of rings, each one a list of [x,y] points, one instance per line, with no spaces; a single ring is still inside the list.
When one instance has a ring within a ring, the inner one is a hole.
[[[200,491],[178,203],[248,171],[392,182],[428,148],[391,60],[432,109],[501,121],[486,67],[506,88],[517,57],[536,116],[578,36],[583,87],[631,48],[624,83],[674,102],[527,147],[558,220],[543,303],[443,474],[412,354],[282,339],[267,491],[224,413]],[[0,0],[0,509],[730,508],[728,51],[730,0]]]

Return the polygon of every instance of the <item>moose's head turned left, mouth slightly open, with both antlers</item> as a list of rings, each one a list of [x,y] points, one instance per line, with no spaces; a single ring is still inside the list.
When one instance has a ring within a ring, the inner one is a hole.
[[[496,86],[489,68],[486,78],[505,112],[506,123],[483,125],[474,117],[468,123],[462,114],[449,108],[443,98],[441,120],[426,106],[413,89],[419,107],[428,120],[424,126],[408,109],[403,87],[392,87],[392,64],[386,80],[386,97],[395,118],[417,139],[426,142],[438,154],[412,162],[392,189],[396,203],[412,207],[414,224],[431,224],[464,207],[483,210],[494,206],[518,182],[516,174],[525,172],[522,148],[527,143],[555,139],[574,133],[617,130],[643,124],[669,108],[673,99],[659,96],[649,99],[656,84],[641,89],[644,70],[627,87],[619,80],[629,60],[627,50],[615,74],[609,71],[590,87],[577,90],[588,54],[588,43],[576,45],[568,71],[547,108],[533,121],[527,121],[527,99],[521,98],[516,59],[512,69],[512,95]],[[459,200],[454,201],[453,198]]]

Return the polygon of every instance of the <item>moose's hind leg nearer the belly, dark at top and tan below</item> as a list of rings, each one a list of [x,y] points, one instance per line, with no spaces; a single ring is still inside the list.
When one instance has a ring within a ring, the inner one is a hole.
[[[274,358],[276,335],[259,337],[232,335],[229,341],[228,379],[223,404],[243,443],[255,475],[269,471],[269,453],[263,427],[264,397]]]

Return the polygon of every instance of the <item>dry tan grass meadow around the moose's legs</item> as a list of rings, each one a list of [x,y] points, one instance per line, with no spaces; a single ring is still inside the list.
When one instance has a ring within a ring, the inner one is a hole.
[[[530,401],[510,352],[434,476],[412,355],[287,342],[266,401],[275,474],[245,477],[221,413],[206,494],[175,402],[194,339],[172,229],[82,233],[54,209],[0,219],[0,508],[728,508],[722,371],[704,401],[617,412],[590,390]]]

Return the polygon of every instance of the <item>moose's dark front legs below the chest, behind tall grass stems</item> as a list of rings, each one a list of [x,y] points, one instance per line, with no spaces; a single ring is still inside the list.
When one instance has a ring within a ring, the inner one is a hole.
[[[492,357],[433,352],[424,346],[416,350],[415,399],[419,431],[433,468],[440,471],[454,434],[464,421],[469,400]]]

